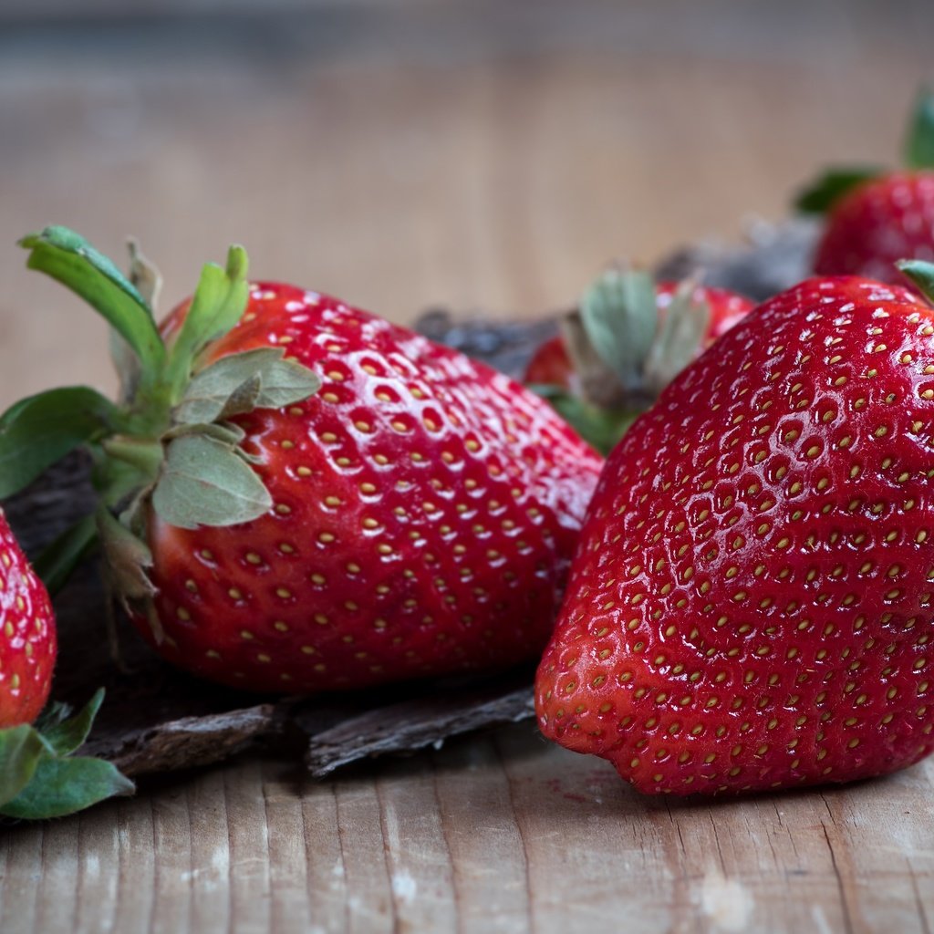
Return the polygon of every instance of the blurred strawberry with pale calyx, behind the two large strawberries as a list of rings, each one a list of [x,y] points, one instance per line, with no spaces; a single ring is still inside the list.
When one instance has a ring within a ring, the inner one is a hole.
[[[755,307],[726,289],[612,268],[533,354],[523,381],[607,453],[703,350]]]

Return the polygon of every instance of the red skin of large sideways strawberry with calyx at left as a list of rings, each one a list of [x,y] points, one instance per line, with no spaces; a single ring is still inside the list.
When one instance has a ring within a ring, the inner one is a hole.
[[[238,419],[273,497],[267,515],[196,531],[152,517],[163,636],[136,620],[150,642],[260,690],[536,658],[597,455],[507,377],[328,296],[254,286],[209,357],[268,346],[323,385]]]

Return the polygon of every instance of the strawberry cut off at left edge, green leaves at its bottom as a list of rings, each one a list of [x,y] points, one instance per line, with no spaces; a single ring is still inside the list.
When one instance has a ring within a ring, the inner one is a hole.
[[[7,817],[61,817],[134,790],[110,762],[71,755],[87,738],[103,690],[71,719],[63,704],[43,712],[55,654],[49,592],[0,510],[0,814]]]

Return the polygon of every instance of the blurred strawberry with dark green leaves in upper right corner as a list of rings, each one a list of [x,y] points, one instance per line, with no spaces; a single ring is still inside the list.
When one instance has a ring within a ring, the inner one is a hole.
[[[934,93],[917,96],[899,169],[829,169],[797,206],[827,216],[815,273],[906,285],[897,261],[934,261]]]

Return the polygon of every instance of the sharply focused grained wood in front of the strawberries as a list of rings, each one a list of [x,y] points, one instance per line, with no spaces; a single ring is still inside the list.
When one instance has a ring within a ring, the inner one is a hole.
[[[248,758],[8,830],[0,929],[928,934],[932,781],[647,799],[528,724],[321,782]]]

